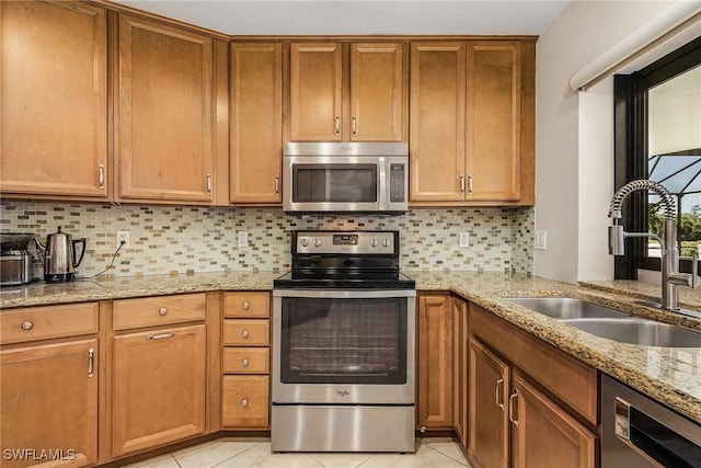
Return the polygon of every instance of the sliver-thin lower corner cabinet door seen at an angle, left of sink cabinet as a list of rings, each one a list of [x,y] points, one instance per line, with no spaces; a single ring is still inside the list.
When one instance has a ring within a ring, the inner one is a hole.
[[[452,298],[452,429],[468,446],[468,304]]]

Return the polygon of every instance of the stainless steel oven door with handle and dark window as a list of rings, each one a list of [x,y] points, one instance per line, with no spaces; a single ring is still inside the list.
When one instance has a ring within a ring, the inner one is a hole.
[[[275,289],[273,403],[413,404],[415,290]]]

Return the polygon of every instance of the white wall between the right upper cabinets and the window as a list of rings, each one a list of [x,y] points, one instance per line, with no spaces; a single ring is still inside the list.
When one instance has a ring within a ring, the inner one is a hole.
[[[608,201],[613,194],[612,84],[574,93],[572,75],[659,15],[674,1],[575,0],[540,36],[536,64],[533,273],[576,283],[613,277]]]

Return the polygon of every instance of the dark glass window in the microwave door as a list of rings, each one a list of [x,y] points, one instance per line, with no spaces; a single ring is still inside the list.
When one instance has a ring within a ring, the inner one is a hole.
[[[377,203],[377,164],[295,164],[294,203]]]

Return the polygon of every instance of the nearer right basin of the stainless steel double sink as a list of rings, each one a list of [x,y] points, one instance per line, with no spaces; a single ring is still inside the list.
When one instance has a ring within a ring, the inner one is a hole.
[[[597,336],[641,346],[701,347],[701,332],[653,320],[570,319],[562,322]]]

